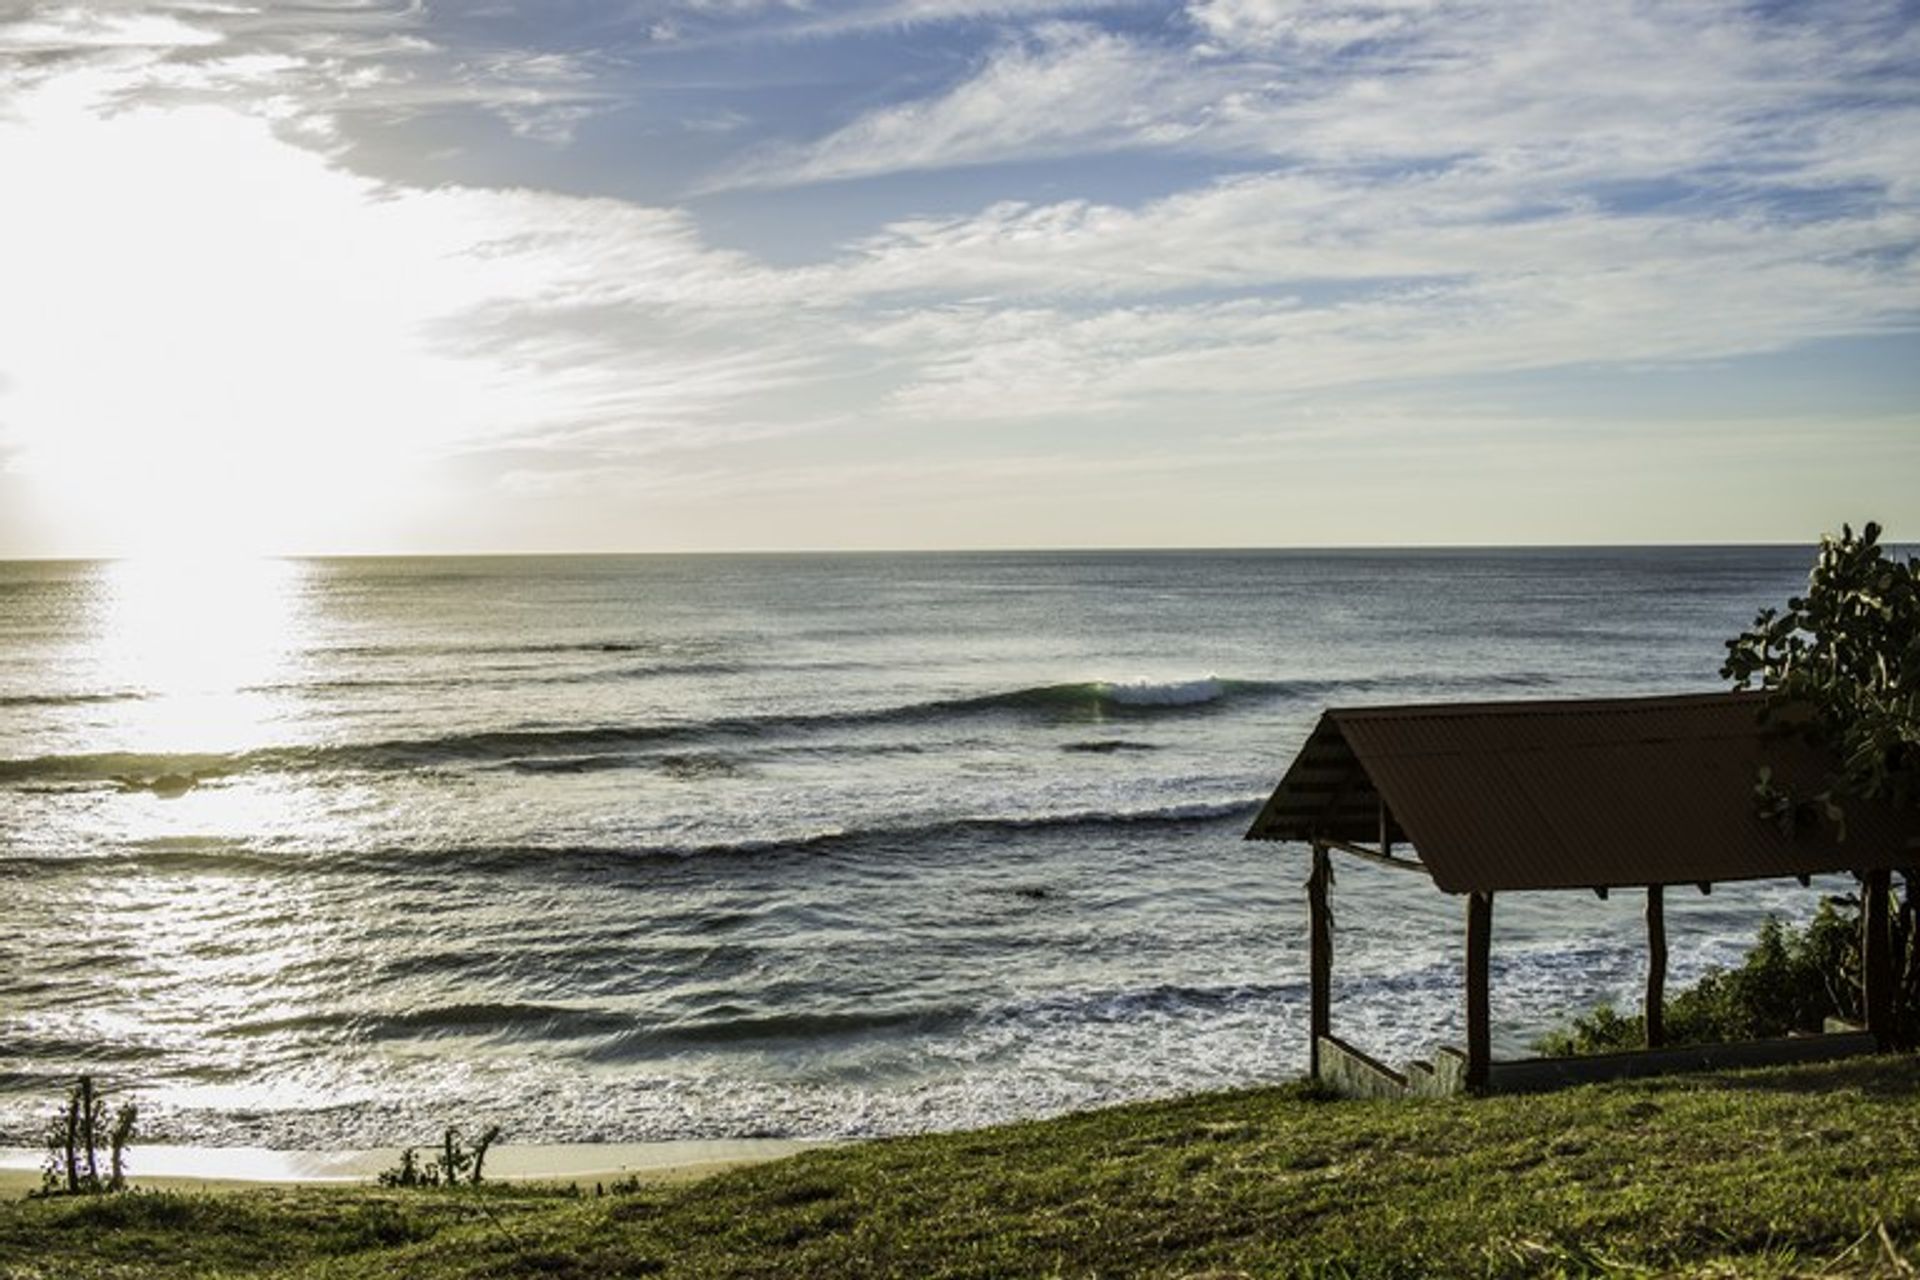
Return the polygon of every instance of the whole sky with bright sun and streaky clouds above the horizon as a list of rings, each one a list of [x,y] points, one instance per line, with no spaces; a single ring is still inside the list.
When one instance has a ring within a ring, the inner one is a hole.
[[[0,557],[1868,518],[1914,0],[0,0]]]

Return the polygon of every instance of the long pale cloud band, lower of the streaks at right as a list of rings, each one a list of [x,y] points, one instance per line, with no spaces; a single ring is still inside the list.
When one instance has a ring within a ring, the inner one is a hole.
[[[1801,228],[1574,215],[1501,246],[1461,230],[1432,244],[1356,246],[1344,263],[1334,249],[1327,273],[1344,267],[1365,288],[1321,297],[1085,307],[1064,292],[1052,307],[916,309],[876,340],[939,353],[897,393],[916,416],[1100,415],[1144,403],[1231,415],[1334,388],[1707,361],[1907,332],[1920,271],[1910,253],[1897,263],[1884,253],[1916,236],[1910,215]],[[1434,274],[1450,246],[1453,271]],[[1269,248],[1286,261],[1283,246]],[[1071,249],[1062,257],[1050,271],[1071,286]],[[1258,255],[1250,265],[1260,269]]]

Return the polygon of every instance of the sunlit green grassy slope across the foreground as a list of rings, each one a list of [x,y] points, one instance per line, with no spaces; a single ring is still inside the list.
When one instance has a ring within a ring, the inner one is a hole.
[[[1213,1094],[609,1197],[0,1205],[0,1274],[48,1278],[1901,1276],[1916,1257],[1910,1057],[1480,1102]]]

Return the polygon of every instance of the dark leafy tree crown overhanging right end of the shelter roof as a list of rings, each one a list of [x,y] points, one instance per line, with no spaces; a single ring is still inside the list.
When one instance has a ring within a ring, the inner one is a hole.
[[[1841,762],[1811,798],[1763,779],[1778,819],[1824,814],[1845,835],[1847,796],[1920,804],[1920,558],[1889,558],[1878,524],[1822,535],[1807,595],[1763,608],[1726,643],[1720,676],[1764,689],[1768,712],[1791,708],[1786,723]]]

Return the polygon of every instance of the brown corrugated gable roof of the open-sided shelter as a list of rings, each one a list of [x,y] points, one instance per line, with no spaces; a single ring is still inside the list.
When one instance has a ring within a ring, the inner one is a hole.
[[[1446,892],[1686,885],[1920,864],[1920,812],[1847,802],[1791,837],[1755,771],[1811,794],[1832,760],[1759,693],[1327,710],[1252,841],[1375,844],[1380,802]]]

